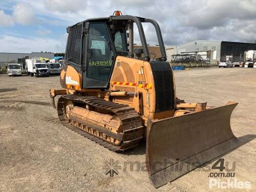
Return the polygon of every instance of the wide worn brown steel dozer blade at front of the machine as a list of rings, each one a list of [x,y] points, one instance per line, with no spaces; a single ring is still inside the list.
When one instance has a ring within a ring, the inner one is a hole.
[[[235,148],[230,116],[238,103],[148,120],[146,165],[157,188]]]

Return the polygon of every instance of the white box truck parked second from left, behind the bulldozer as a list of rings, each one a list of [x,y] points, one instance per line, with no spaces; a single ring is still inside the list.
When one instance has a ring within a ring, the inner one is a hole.
[[[49,69],[47,68],[45,60],[39,59],[26,59],[26,70],[27,74],[31,76],[48,76],[49,77]]]

